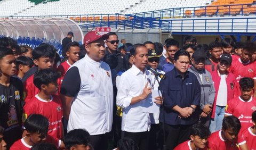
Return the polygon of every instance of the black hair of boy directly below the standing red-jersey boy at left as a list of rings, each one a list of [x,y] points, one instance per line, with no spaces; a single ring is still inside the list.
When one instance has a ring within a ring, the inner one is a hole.
[[[25,120],[24,127],[31,134],[47,134],[49,121],[41,114],[30,114]]]

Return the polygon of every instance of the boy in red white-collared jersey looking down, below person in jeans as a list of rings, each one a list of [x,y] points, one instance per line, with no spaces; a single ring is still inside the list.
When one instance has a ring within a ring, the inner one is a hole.
[[[233,150],[238,149],[237,135],[241,129],[241,123],[235,116],[227,116],[223,119],[222,129],[210,135],[207,140],[207,146],[204,148],[211,150]]]

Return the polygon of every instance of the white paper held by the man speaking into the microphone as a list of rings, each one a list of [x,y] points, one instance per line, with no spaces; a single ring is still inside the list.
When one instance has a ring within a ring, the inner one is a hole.
[[[155,97],[162,96],[160,90],[151,90],[151,94],[148,95],[148,97],[145,99],[144,103],[142,104],[142,111],[148,112],[148,113],[155,113],[159,112],[160,105],[156,104]]]

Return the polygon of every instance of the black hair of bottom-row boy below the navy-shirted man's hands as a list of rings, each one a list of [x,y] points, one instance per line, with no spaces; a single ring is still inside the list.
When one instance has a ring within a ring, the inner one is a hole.
[[[190,135],[192,136],[199,136],[202,139],[207,139],[211,134],[209,128],[204,126],[204,124],[197,123],[193,124],[192,128],[190,129]]]

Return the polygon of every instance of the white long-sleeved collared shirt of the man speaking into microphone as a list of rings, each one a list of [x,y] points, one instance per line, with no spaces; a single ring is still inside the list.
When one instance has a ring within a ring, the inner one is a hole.
[[[142,112],[142,100],[131,105],[133,97],[142,94],[143,88],[149,82],[151,86],[151,74],[145,69],[140,71],[137,66],[125,71],[119,81],[117,89],[116,104],[123,108],[122,131],[127,132],[144,132],[150,129],[149,113]]]

